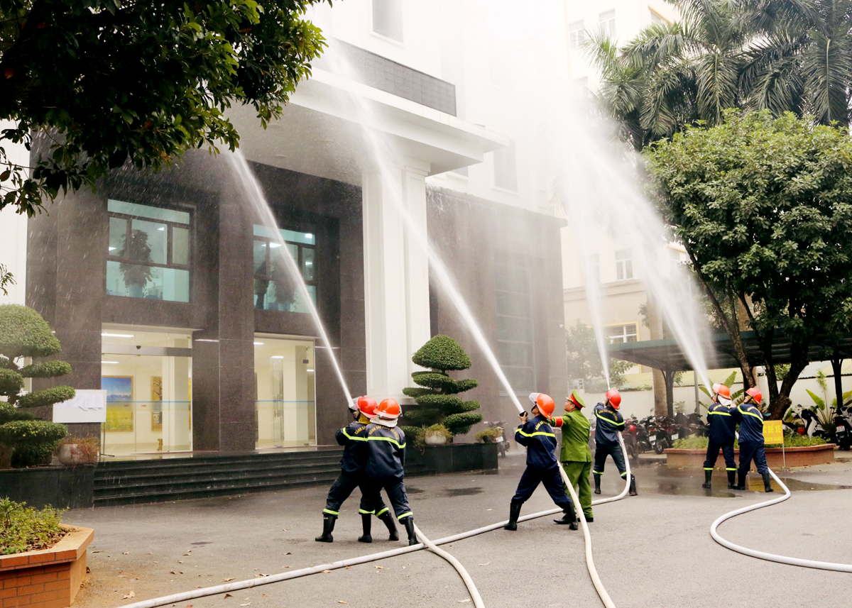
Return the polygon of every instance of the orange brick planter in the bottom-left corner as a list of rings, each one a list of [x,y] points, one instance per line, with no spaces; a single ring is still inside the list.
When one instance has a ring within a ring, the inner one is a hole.
[[[2,608],[67,608],[86,576],[91,528],[75,528],[49,549],[0,557]]]

